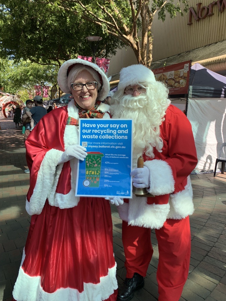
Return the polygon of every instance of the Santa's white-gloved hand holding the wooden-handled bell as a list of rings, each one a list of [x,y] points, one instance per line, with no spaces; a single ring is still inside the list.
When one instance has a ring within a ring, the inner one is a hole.
[[[148,188],[150,186],[150,171],[147,166],[133,169],[130,172],[133,177],[133,186],[137,188]]]

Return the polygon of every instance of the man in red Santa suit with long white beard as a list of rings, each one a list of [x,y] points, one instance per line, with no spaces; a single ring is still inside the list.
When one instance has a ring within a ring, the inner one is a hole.
[[[197,157],[190,122],[170,104],[165,85],[143,65],[121,70],[111,114],[133,119],[133,186],[152,195],[133,194],[118,206],[127,275],[117,300],[128,301],[143,287],[153,254],[151,229],[155,229],[159,301],[178,301],[189,271],[189,215],[194,211],[189,175]],[[143,168],[137,168],[140,155]]]

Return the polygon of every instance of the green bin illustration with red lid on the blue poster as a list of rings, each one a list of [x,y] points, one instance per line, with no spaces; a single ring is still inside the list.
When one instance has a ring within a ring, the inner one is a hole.
[[[83,181],[85,187],[99,187],[101,160],[104,154],[100,152],[87,152],[86,156],[86,179]]]

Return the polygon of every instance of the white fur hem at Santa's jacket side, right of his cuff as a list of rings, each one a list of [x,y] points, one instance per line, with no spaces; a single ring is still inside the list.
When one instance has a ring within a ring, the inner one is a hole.
[[[185,189],[170,195],[170,212],[168,219],[184,219],[194,212],[193,191],[190,176],[187,177]]]

